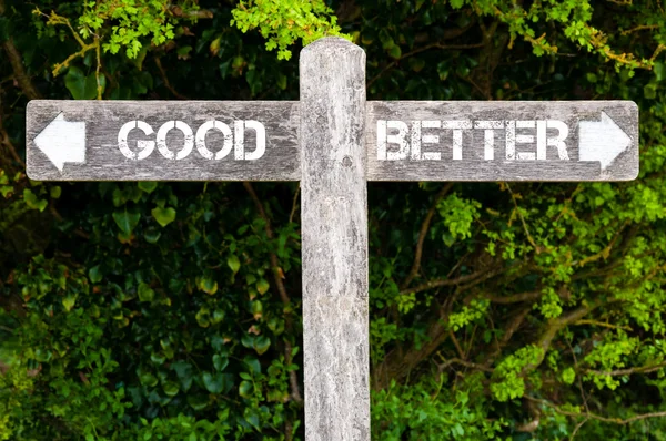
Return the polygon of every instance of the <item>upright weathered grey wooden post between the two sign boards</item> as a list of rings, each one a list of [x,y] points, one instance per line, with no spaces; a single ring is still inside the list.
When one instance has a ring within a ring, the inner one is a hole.
[[[365,52],[301,52],[306,441],[370,440]]]

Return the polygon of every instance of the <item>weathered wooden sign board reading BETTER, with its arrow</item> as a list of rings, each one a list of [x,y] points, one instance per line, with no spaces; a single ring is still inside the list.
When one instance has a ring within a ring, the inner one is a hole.
[[[632,101],[367,103],[370,181],[629,181]]]

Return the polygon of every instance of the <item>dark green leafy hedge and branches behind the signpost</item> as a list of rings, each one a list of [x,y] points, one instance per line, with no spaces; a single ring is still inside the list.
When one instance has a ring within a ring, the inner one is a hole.
[[[297,100],[339,32],[369,100],[640,107],[635,182],[369,184],[373,438],[666,439],[663,2],[329,7],[0,0],[0,439],[302,439],[297,184],[30,182],[24,110]]]

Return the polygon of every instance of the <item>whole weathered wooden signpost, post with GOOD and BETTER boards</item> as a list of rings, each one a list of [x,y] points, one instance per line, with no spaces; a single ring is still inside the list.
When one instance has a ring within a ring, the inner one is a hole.
[[[628,181],[630,101],[365,101],[365,52],[301,53],[297,102],[31,101],[39,181],[301,181],[307,441],[370,440],[367,181]]]

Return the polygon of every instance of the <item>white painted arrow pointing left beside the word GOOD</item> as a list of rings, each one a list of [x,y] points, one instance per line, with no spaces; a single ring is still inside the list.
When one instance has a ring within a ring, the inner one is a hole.
[[[62,173],[65,163],[85,162],[85,123],[64,121],[60,112],[37,135],[34,144]]]

